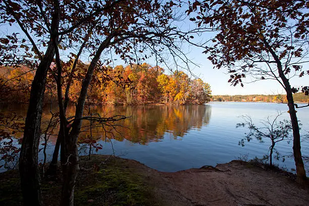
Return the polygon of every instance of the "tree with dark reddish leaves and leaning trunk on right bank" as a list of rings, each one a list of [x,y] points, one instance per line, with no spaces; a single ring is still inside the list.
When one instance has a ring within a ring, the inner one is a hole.
[[[227,68],[232,85],[243,79],[277,81],[286,91],[293,130],[293,152],[297,181],[306,179],[300,150],[300,134],[293,93],[308,86],[293,87],[292,77],[308,75],[309,4],[306,1],[194,1],[187,13],[198,25],[217,30],[204,53],[216,68]],[[192,13],[193,12],[193,13]]]

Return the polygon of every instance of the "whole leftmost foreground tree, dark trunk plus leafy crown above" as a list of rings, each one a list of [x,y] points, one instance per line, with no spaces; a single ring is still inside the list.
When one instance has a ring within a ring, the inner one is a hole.
[[[46,75],[50,69],[56,49],[62,47],[57,41],[61,35],[69,35],[68,42],[71,46],[79,39],[70,33],[81,34],[80,25],[91,20],[99,11],[113,6],[94,5],[90,10],[85,10],[83,1],[75,1],[74,4],[59,1],[1,1],[1,23],[3,25],[17,25],[23,35],[8,33],[0,40],[1,65],[24,65],[36,69],[31,85],[29,108],[25,121],[25,131],[20,152],[19,170],[25,205],[41,205],[41,190],[39,186],[39,174],[37,168],[37,151],[40,136],[40,122],[42,103],[45,91]],[[92,9],[96,10],[92,12]],[[60,23],[61,22],[61,23]],[[59,29],[59,25],[62,29]],[[84,28],[86,25],[83,25]],[[63,32],[59,33],[59,30]],[[60,71],[60,70],[58,70]],[[55,75],[55,74],[54,74]],[[55,75],[57,76],[57,75]],[[61,76],[58,76],[58,80]]]

